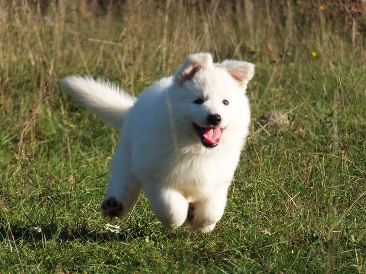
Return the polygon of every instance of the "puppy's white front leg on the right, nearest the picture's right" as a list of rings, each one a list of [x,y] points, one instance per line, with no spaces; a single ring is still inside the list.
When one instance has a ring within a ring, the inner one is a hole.
[[[229,184],[220,186],[209,197],[193,202],[191,224],[194,229],[202,233],[214,230],[216,223],[224,214]]]

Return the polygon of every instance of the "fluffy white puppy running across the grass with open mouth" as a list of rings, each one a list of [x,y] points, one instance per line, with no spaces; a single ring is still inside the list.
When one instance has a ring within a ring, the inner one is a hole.
[[[63,79],[67,93],[121,129],[104,215],[123,217],[142,188],[164,226],[213,230],[249,132],[246,89],[254,69],[250,62],[214,63],[209,53],[195,53],[138,98],[102,80]]]

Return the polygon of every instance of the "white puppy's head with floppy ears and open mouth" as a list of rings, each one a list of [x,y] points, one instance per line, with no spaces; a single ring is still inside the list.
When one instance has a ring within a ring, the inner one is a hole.
[[[178,119],[190,123],[188,130],[205,147],[218,146],[235,128],[238,134],[247,132],[250,110],[246,88],[254,76],[254,67],[236,60],[213,63],[209,53],[196,53],[189,55],[175,72],[175,96],[180,106],[176,111],[185,116]]]

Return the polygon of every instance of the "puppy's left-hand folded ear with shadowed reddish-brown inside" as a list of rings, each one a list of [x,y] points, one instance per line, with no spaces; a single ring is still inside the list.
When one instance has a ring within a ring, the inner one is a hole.
[[[175,79],[179,86],[190,81],[195,74],[212,65],[212,56],[209,53],[193,53],[189,55],[183,64],[175,72]]]

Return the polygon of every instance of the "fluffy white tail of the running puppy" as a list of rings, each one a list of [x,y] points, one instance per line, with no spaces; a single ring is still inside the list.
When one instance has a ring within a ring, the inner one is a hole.
[[[116,128],[121,128],[136,98],[119,87],[93,78],[70,76],[61,80],[64,90],[81,105],[102,117]]]

